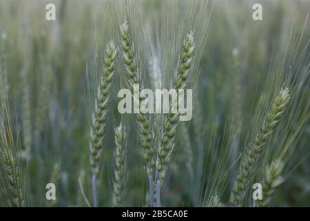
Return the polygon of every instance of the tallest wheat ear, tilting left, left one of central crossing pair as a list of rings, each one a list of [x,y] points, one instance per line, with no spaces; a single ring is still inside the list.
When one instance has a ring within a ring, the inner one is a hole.
[[[130,36],[130,29],[128,22],[124,21],[120,28],[121,33],[121,50],[124,61],[124,67],[127,74],[127,83],[130,90],[134,90],[134,84],[139,84],[139,70],[136,64],[136,55],[132,39]],[[140,89],[140,88],[139,88]],[[134,99],[134,102],[139,102]],[[154,206],[154,193],[153,193],[153,180],[154,180],[154,168],[155,168],[155,151],[154,144],[152,143],[154,133],[152,132],[152,126],[149,121],[148,115],[138,113],[136,115],[136,121],[138,122],[138,133],[143,147],[143,157],[147,163],[147,175],[149,177],[149,195],[151,206]]]

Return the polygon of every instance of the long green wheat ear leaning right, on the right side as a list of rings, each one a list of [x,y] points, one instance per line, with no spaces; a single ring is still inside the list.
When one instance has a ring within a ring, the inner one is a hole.
[[[251,175],[254,172],[254,169],[256,169],[256,164],[263,154],[265,144],[267,144],[269,138],[276,130],[276,126],[278,126],[280,118],[285,113],[287,104],[289,104],[289,99],[289,89],[281,89],[280,93],[274,100],[271,110],[263,122],[260,131],[256,135],[254,142],[252,142],[251,146],[247,148],[245,155],[241,158],[238,174],[234,183],[234,189],[230,198],[230,203],[232,205],[240,205],[245,197]]]

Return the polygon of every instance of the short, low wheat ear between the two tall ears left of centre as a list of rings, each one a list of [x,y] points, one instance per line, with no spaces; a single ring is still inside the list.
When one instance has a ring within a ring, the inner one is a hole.
[[[115,165],[113,177],[112,206],[123,205],[126,173],[126,128],[120,124],[115,129]]]

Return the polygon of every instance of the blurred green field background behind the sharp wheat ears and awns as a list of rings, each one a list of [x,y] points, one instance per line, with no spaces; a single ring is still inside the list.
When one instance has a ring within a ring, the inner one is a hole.
[[[114,17],[123,20],[122,15],[115,14],[123,10],[124,2],[118,1],[118,8],[114,1],[0,0],[1,75],[6,79],[2,86],[8,92],[12,119],[20,126],[21,162],[28,162],[29,198],[33,206],[86,206],[79,179],[91,201],[89,140],[94,97],[89,91],[96,90],[98,85],[92,75],[98,76],[96,67],[100,64],[94,61],[102,59],[105,44],[118,34],[120,24]],[[56,6],[56,21],[45,19],[48,3]],[[252,19],[254,3],[262,5],[262,21]],[[147,18],[148,12],[169,15],[174,4],[179,2],[141,1],[142,16]],[[227,180],[225,185],[218,186],[220,200],[227,202],[230,154],[217,152],[218,149],[229,146],[231,131],[240,130],[240,149],[251,140],[250,128],[269,106],[281,67],[288,70],[289,65],[298,64],[296,73],[305,69],[309,73],[310,26],[309,22],[304,22],[310,1],[219,0],[209,1],[208,8],[205,20],[201,21],[207,26],[208,35],[205,44],[198,46],[200,77],[194,93],[193,119],[183,127],[185,132],[179,133],[187,135],[179,135],[177,139],[174,162],[163,189],[165,206],[203,206],[199,199],[207,197],[207,190],[213,190],[222,175]],[[150,21],[151,29],[152,22],[156,21]],[[291,44],[296,41],[298,44]],[[288,44],[291,44],[289,53]],[[287,54],[294,59],[283,64]],[[123,71],[119,66],[116,75]],[[302,103],[298,110],[309,113],[306,105],[310,95],[308,75],[306,82],[298,97]],[[112,88],[101,155],[100,206],[111,205],[114,127],[120,122],[116,95],[120,87],[121,77],[118,76]],[[236,126],[234,118],[242,120],[242,124]],[[289,122],[289,125],[293,124]],[[130,116],[127,116],[126,126],[125,205],[144,206],[147,175],[136,124]],[[287,130],[293,131],[293,128]],[[289,137],[290,133],[285,135]],[[281,133],[277,139],[279,137]],[[286,158],[285,182],[276,191],[275,206],[310,206],[309,138],[307,117],[298,140],[293,140],[296,151]],[[27,148],[31,155],[27,154]],[[190,148],[191,153],[187,153],[186,148]],[[203,172],[199,172],[198,165],[200,148],[205,150],[203,166],[200,166]],[[265,158],[262,164],[267,161]],[[225,162],[220,166],[223,171],[216,171],[219,160]],[[191,183],[189,168],[194,169],[193,179],[199,180],[200,193],[192,192],[197,188]],[[56,201],[45,200],[48,182],[56,184]],[[0,206],[6,206],[1,195]]]

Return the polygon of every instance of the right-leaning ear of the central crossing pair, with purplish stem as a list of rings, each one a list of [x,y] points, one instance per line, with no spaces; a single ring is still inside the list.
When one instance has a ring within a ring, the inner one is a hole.
[[[189,69],[192,66],[195,48],[194,33],[191,31],[186,35],[183,43],[179,59],[178,73],[176,74],[176,80],[174,82],[174,88],[176,90],[185,89],[187,86]],[[156,161],[156,206],[161,206],[161,183],[165,179],[167,165],[171,162],[172,153],[176,144],[176,128],[178,126],[179,113],[172,113],[171,108],[172,105],[170,105],[169,113],[165,117],[165,128],[161,139],[161,146],[159,147],[159,157]]]

